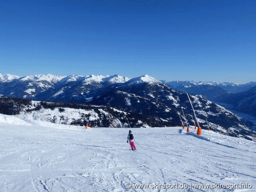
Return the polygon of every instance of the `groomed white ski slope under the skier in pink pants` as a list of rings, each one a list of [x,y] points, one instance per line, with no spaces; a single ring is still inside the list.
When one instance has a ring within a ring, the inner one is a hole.
[[[132,151],[126,143],[128,130],[85,130],[0,114],[0,191],[256,191],[255,142],[206,130],[196,136],[179,127],[132,128],[139,144]],[[128,189],[127,183],[155,188]],[[214,183],[248,183],[251,188],[194,187]]]

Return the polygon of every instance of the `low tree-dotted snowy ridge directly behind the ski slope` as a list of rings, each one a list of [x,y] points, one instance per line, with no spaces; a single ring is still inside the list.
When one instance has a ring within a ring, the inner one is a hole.
[[[164,127],[178,126],[178,122],[165,122],[125,112],[110,106],[90,104],[33,101],[20,98],[0,98],[0,113],[16,115],[27,120],[41,120],[58,124],[92,127]]]

